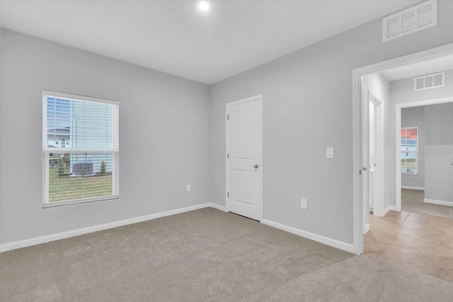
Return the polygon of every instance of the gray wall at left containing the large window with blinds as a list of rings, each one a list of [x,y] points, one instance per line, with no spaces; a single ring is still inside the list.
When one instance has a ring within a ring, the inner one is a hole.
[[[1,243],[210,201],[209,86],[5,29],[0,59]],[[121,101],[120,199],[42,209],[41,89]]]

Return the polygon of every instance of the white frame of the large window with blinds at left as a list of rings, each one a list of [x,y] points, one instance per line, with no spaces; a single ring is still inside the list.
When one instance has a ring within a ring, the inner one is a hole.
[[[42,103],[42,207],[60,207],[69,204],[85,204],[91,202],[101,202],[110,199],[118,199],[120,195],[120,125],[119,125],[119,112],[120,112],[120,101],[108,100],[103,98],[94,98],[85,95],[74,95],[69,93],[59,93],[55,91],[41,91],[41,103]],[[47,146],[47,98],[62,98],[65,100],[83,101],[88,103],[103,103],[114,105],[115,114],[112,116],[112,121],[115,125],[115,129],[112,129],[116,134],[113,136],[115,139],[113,148],[110,149],[89,149],[89,148],[50,148]],[[114,120],[115,119],[115,120]],[[69,151],[69,152],[68,152]],[[49,160],[51,153],[111,153],[112,154],[112,195],[102,197],[88,197],[84,199],[71,199],[61,202],[49,202]]]

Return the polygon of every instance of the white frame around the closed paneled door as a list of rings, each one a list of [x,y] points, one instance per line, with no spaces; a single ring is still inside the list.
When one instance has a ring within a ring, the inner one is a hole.
[[[225,180],[225,204],[226,204],[226,211],[229,211],[229,197],[227,196],[227,192],[229,191],[229,159],[227,158],[228,150],[229,150],[229,127],[228,127],[228,118],[229,118],[229,108],[234,105],[239,105],[243,103],[248,103],[253,100],[258,101],[258,146],[259,146],[259,160],[258,160],[258,181],[259,181],[259,188],[258,188],[258,212],[259,212],[259,221],[263,220],[263,95],[255,95],[250,98],[243,98],[241,100],[236,100],[231,103],[226,103],[225,105],[225,170],[226,170],[226,180]]]

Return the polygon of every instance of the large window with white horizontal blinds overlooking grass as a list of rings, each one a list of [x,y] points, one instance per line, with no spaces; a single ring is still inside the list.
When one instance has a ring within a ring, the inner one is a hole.
[[[117,198],[118,105],[42,91],[45,206]]]

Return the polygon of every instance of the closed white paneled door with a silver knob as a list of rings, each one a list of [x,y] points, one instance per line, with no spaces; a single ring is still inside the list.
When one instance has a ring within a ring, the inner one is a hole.
[[[226,104],[226,206],[260,220],[261,95]]]

